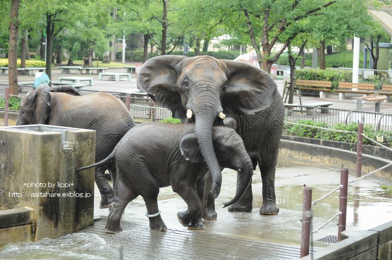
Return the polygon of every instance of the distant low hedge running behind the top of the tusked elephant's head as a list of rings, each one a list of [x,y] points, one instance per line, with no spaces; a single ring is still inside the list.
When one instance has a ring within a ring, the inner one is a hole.
[[[171,55],[183,55],[184,53],[182,51],[173,51]],[[116,52],[116,59],[121,60],[122,59],[122,52]],[[152,58],[155,56],[160,56],[160,52],[148,52],[148,58]],[[212,57],[215,57],[217,59],[226,59],[226,60],[234,60],[240,55],[239,51],[228,51],[228,50],[221,50],[221,51],[216,51],[216,52],[200,52],[200,55],[209,55]],[[188,52],[188,57],[193,57],[195,56],[195,52],[190,51]],[[130,61],[143,61],[143,50],[134,50],[130,51],[127,50],[125,51],[125,60],[130,60]]]

